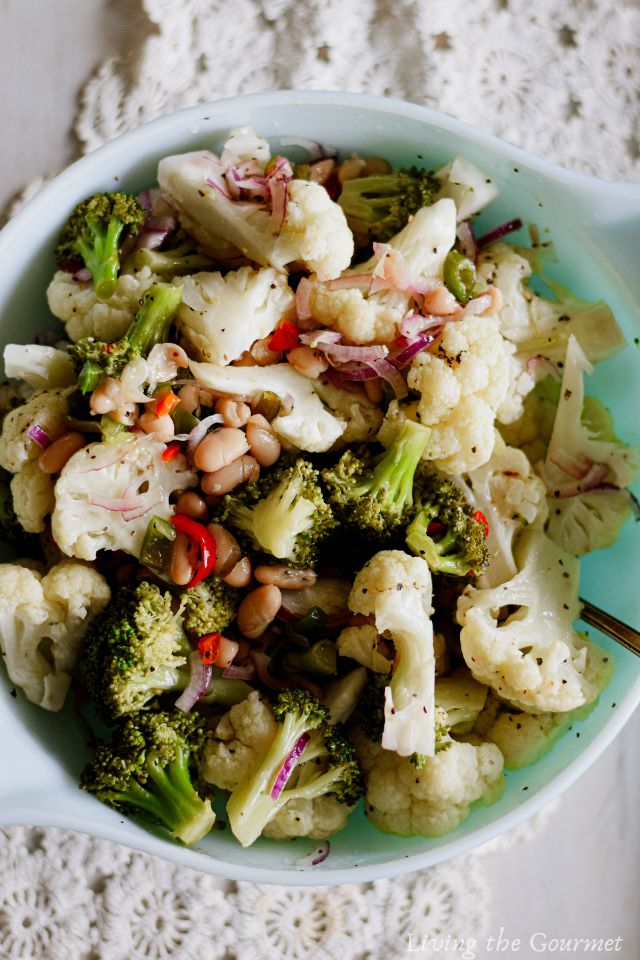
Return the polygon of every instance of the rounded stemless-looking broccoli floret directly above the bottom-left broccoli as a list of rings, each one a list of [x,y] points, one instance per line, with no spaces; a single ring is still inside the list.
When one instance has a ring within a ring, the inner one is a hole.
[[[142,710],[189,683],[191,646],[172,596],[142,580],[125,586],[84,637],[82,676],[106,720]]]

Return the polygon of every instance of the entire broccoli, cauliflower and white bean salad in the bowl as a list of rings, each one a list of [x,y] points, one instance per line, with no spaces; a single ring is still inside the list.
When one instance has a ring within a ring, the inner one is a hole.
[[[535,292],[519,220],[477,235],[496,193],[242,127],[70,211],[59,331],[4,352],[0,619],[11,681],[95,730],[83,789],[315,864],[360,798],[453,830],[595,703],[579,558],[640,450],[585,378],[624,338]]]

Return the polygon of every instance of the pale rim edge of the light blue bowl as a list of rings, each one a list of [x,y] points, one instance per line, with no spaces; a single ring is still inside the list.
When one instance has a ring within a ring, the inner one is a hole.
[[[194,123],[206,122],[216,114],[224,113],[230,107],[241,104],[243,108],[280,106],[333,106],[337,108],[367,109],[377,114],[391,114],[416,120],[426,126],[436,126],[440,129],[459,136],[466,142],[480,145],[495,154],[526,165],[527,168],[543,176],[547,180],[566,185],[574,193],[583,198],[592,197],[594,202],[603,197],[612,197],[627,201],[640,209],[640,183],[615,182],[565,169],[541,157],[507,143],[492,134],[473,127],[470,124],[441,114],[421,104],[408,103],[396,98],[377,97],[369,94],[351,93],[342,91],[295,91],[278,90],[263,93],[247,94],[236,97],[226,97],[209,103],[183,108],[148,123],[141,124],[109,141],[95,151],[76,160],[70,166],[58,173],[50,183],[47,183],[31,200],[29,200],[0,231],[0,253],[3,248],[13,244],[22,231],[27,230],[31,223],[38,218],[41,210],[58,195],[64,194],[72,187],[78,174],[86,174],[92,168],[102,166],[109,160],[117,160],[123,153],[130,155],[136,146],[150,133],[154,137],[161,136],[164,131],[178,131],[181,128],[189,130]],[[193,132],[193,131],[192,131]],[[206,133],[206,130],[204,131]],[[63,814],[34,807],[0,809],[0,819],[6,825],[19,825],[37,822],[47,827],[60,827],[87,832],[93,836],[102,837],[117,843],[123,843],[136,850],[163,857],[182,866],[199,869],[207,873],[224,876],[231,880],[243,880],[259,883],[289,884],[294,886],[321,886],[327,884],[361,883],[381,878],[397,876],[415,870],[433,866],[444,860],[453,859],[474,848],[488,843],[499,835],[522,823],[528,817],[541,810],[549,801],[563,793],[574,781],[583,774],[597,759],[604,749],[613,741],[626,724],[636,706],[640,702],[640,675],[635,684],[627,692],[618,708],[604,723],[593,740],[587,744],[582,752],[568,766],[566,766],[546,786],[537,790],[529,799],[518,804],[511,811],[498,817],[486,826],[480,827],[472,834],[453,839],[438,847],[427,849],[417,854],[405,854],[395,857],[384,863],[371,865],[357,865],[332,869],[331,860],[326,866],[316,867],[313,870],[275,869],[227,863],[210,856],[203,855],[197,850],[169,844],[166,840],[142,831],[131,835],[129,830],[122,830],[116,824],[93,821],[86,817],[83,822],[70,822],[70,818]],[[35,818],[35,819],[34,819]]]

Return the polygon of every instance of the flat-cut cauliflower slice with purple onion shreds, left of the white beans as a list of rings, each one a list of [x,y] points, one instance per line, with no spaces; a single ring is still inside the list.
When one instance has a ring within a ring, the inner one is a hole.
[[[195,483],[184,457],[165,462],[164,449],[153,436],[136,436],[118,446],[90,443],[67,461],[51,517],[63,553],[83,560],[95,560],[99,550],[140,555],[151,516],[168,520],[171,494]]]

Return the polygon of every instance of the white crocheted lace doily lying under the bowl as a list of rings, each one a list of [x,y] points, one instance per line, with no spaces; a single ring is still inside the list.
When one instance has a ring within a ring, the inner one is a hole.
[[[129,0],[137,49],[104,63],[76,121],[85,151],[197,101],[269,88],[425,103],[548,159],[640,178],[636,0]],[[32,195],[39,187],[25,191]],[[482,854],[336,888],[227,885],[101,840],[0,831],[2,960],[459,958],[491,925]],[[429,943],[435,944],[429,947]]]

